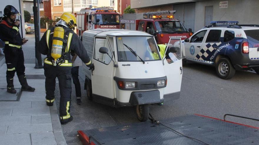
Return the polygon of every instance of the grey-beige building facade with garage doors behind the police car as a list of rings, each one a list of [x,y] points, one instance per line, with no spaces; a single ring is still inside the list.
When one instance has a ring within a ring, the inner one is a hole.
[[[210,21],[258,24],[258,7],[258,0],[131,0],[131,8],[137,9],[137,13],[176,10],[175,18],[194,32]]]

